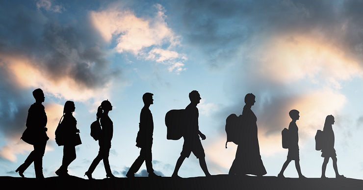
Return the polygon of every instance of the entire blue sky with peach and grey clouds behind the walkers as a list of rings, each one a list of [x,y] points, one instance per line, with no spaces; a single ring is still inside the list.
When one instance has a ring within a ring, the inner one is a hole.
[[[362,1],[345,0],[2,1],[0,175],[17,176],[14,170],[32,149],[19,138],[34,101],[31,92],[42,88],[51,137],[46,177],[61,164],[54,130],[64,102],[76,104],[83,143],[69,170],[81,177],[98,152],[89,126],[104,99],[114,106],[111,169],[124,176],[138,156],[134,145],[146,92],[155,99],[154,168],[170,176],[182,140],[166,140],[164,117],[185,108],[188,93],[197,90],[211,174],[228,173],[236,145],[224,148],[225,119],[240,114],[244,95],[253,93],[267,175],[277,175],[285,162],[281,130],[288,126],[288,111],[297,109],[303,174],[321,174],[314,135],[332,114],[339,171],[362,178],[362,7]],[[34,176],[32,168],[25,175]],[[203,175],[194,156],[180,175]],[[102,164],[93,176],[104,178]],[[285,176],[297,177],[293,165]],[[334,176],[331,164],[327,176]]]

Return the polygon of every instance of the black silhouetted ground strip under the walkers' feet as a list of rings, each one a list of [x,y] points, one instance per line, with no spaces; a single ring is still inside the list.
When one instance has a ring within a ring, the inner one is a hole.
[[[85,180],[78,177],[49,177],[44,181],[35,178],[0,177],[6,189],[47,189],[47,190],[362,190],[363,180],[328,178],[285,178],[214,175],[193,178],[148,178],[137,177]]]

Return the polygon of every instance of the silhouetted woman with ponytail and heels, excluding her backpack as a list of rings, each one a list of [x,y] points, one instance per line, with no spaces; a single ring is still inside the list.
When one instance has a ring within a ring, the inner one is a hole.
[[[98,144],[100,145],[100,150],[96,158],[93,160],[91,166],[89,166],[88,170],[84,173],[84,175],[86,175],[88,179],[93,179],[92,173],[101,160],[104,161],[104,169],[106,170],[106,177],[115,178],[115,176],[111,172],[110,164],[108,162],[108,156],[111,148],[111,140],[113,135],[113,122],[108,117],[108,112],[111,110],[112,110],[112,105],[108,100],[104,100],[97,109],[97,114],[96,114],[97,120],[100,119],[102,126],[101,137],[98,140]]]

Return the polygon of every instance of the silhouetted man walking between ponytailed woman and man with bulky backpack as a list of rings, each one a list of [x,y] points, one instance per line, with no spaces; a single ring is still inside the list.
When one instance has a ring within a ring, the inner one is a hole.
[[[139,132],[136,137],[136,146],[141,148],[140,155],[131,165],[126,177],[135,177],[135,173],[140,169],[144,161],[149,177],[160,177],[154,173],[152,164],[151,147],[153,145],[154,121],[149,107],[151,104],[154,104],[153,94],[145,93],[142,96],[142,100],[144,101],[144,107],[141,109]]]

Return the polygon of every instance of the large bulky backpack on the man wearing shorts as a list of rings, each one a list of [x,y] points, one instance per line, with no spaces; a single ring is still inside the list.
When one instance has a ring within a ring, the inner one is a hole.
[[[167,127],[166,139],[179,140],[183,136],[183,129],[186,125],[185,109],[170,110],[165,115],[165,125]]]

